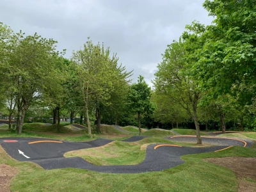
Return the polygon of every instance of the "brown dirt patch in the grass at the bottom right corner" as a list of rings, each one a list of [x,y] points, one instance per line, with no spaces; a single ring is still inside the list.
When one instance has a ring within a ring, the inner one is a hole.
[[[239,181],[238,191],[256,191],[256,157],[208,158],[205,161],[220,164],[236,173]]]

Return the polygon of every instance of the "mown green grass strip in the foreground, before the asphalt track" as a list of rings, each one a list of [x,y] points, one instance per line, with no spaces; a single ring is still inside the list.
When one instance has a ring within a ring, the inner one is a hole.
[[[255,157],[256,148],[232,147],[221,152],[183,156],[186,163],[164,170],[136,174],[97,173],[65,168],[44,170],[34,163],[15,161],[0,147],[0,163],[19,170],[12,191],[237,191],[234,172],[204,161],[208,157]]]

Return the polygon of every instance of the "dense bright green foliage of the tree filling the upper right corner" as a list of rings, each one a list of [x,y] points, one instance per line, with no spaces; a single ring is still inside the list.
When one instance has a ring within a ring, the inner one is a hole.
[[[252,89],[237,91],[250,91],[246,100],[251,102],[256,93],[256,3],[207,0],[204,7],[215,19],[204,33],[204,49],[198,54],[195,74],[215,95],[232,93],[234,87],[244,84]]]

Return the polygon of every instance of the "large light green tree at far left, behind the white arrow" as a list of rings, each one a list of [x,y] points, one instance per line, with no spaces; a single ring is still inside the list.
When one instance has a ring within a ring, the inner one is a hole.
[[[41,38],[36,33],[33,36],[24,36],[21,31],[12,34],[8,43],[10,52],[0,67],[6,82],[12,82],[15,91],[19,134],[22,132],[24,117],[30,104],[58,76],[55,73],[55,61],[59,53],[55,51],[54,44],[56,42],[52,39]]]

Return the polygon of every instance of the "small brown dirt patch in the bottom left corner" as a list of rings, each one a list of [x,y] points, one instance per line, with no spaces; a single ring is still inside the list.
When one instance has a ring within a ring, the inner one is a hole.
[[[6,164],[0,164],[0,191],[11,191],[10,190],[10,181],[17,175],[18,171],[12,166]]]

